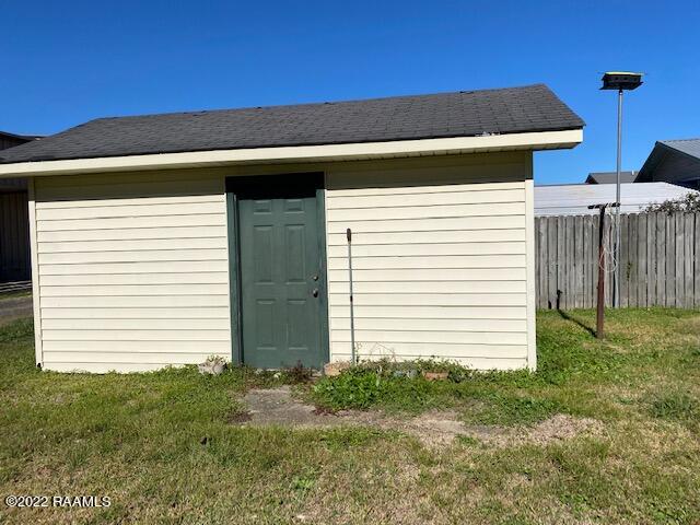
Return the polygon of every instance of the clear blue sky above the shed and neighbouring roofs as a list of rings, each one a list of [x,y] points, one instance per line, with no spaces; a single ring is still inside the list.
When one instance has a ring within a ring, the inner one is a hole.
[[[615,168],[605,70],[626,98],[623,167],[700,136],[700,2],[4,1],[0,129],[54,133],[117,115],[545,82],[587,122],[536,154],[538,184]]]

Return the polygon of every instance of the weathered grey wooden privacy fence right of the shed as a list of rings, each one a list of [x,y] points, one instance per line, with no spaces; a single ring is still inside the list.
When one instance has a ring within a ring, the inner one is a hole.
[[[612,237],[606,217],[606,305]],[[700,213],[620,215],[620,306],[700,307]],[[535,218],[538,308],[592,308],[598,282],[598,215]]]

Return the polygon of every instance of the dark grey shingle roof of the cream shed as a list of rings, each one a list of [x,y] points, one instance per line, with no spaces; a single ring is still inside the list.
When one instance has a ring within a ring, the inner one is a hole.
[[[0,163],[576,129],[546,85],[100,118],[0,152]]]

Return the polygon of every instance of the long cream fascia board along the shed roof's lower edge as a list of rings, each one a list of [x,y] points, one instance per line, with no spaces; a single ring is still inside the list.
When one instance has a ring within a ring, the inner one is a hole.
[[[98,172],[132,172],[214,167],[234,164],[285,164],[337,162],[407,156],[448,155],[516,150],[558,150],[573,148],[583,140],[583,129],[528,133],[455,137],[446,139],[397,140],[349,144],[252,148],[240,150],[191,151],[148,155],[103,156],[62,161],[0,164],[0,178],[40,175],[72,175]]]

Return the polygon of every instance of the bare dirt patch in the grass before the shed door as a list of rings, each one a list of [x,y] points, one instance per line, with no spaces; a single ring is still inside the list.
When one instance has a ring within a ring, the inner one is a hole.
[[[283,425],[295,428],[328,428],[339,425],[376,427],[412,435],[430,447],[451,445],[459,435],[474,438],[491,446],[511,446],[518,443],[547,444],[597,434],[602,423],[594,419],[557,415],[534,427],[467,425],[455,411],[431,410],[413,418],[389,416],[380,410],[342,410],[329,412],[292,397],[289,386],[249,390],[244,401],[248,412],[236,415],[231,423],[244,425]]]

